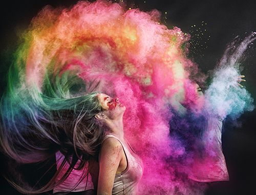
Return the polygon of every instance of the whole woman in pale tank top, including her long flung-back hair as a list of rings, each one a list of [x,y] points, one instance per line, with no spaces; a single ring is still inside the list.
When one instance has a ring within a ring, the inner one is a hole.
[[[65,158],[60,159],[58,170],[44,187],[28,189],[20,185],[21,181],[9,180],[16,189],[23,193],[49,191],[64,182],[74,170],[82,171],[77,183],[79,185],[79,182],[89,177],[92,164],[88,162],[97,161],[101,148],[97,194],[135,193],[142,169],[139,160],[132,155],[124,141],[122,117],[125,106],[118,99],[113,100],[99,93],[74,98],[54,98],[40,94],[38,99],[36,104],[30,101],[28,110],[24,110],[28,106],[22,106],[19,112],[11,113],[11,122],[9,120],[1,131],[1,149],[6,156],[19,163],[41,162],[58,151]],[[7,98],[5,100],[2,102],[2,111],[12,107],[10,103],[13,102]],[[26,104],[26,101],[20,102]],[[38,105],[38,102],[41,104]],[[7,121],[8,116],[4,114],[2,119]],[[25,122],[22,123],[20,118]],[[11,131],[17,125],[19,128]],[[13,132],[18,136],[13,136]],[[68,168],[65,168],[67,163]],[[72,190],[73,187],[65,192]]]

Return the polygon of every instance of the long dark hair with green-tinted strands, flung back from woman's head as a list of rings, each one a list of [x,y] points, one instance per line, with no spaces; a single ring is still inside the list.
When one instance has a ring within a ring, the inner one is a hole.
[[[78,86],[82,82],[73,73],[46,74],[38,88],[24,84],[18,71],[11,67],[1,99],[1,152],[16,164],[43,162],[55,157],[58,150],[65,159],[52,179],[37,189],[23,185],[20,177],[14,181],[10,174],[4,176],[20,192],[41,193],[64,181],[72,169],[82,169],[91,158],[97,159],[104,131],[95,115],[103,110],[98,93],[82,94]],[[56,183],[67,162],[68,171]]]

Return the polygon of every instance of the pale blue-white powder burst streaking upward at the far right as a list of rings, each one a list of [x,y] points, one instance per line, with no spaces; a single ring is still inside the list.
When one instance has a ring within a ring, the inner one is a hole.
[[[245,88],[237,84],[241,75],[240,66],[244,60],[244,52],[255,40],[252,33],[243,41],[234,40],[226,49],[220,60],[209,88],[206,90],[207,107],[209,110],[225,118],[227,115],[236,119],[244,111],[254,109],[253,99]]]

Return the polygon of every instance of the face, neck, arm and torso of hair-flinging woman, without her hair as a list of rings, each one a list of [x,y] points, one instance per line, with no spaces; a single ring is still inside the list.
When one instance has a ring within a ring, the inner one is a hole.
[[[97,95],[104,112],[95,115],[108,129],[99,154],[97,194],[136,194],[142,165],[124,139],[125,106],[105,94]]]

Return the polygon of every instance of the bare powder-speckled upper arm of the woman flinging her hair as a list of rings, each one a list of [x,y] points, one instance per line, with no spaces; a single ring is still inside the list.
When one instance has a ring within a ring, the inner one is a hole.
[[[115,138],[106,139],[101,145],[97,194],[111,194],[117,168],[122,159],[122,145]]]

